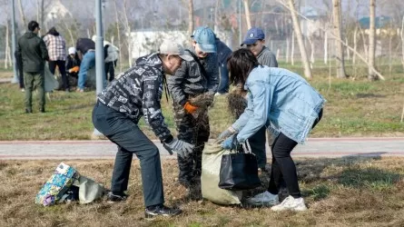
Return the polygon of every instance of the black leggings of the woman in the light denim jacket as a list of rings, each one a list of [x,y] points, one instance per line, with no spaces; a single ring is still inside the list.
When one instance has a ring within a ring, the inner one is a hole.
[[[320,110],[319,117],[313,123],[312,128],[314,128],[316,124],[320,122],[321,117],[322,109]],[[283,184],[286,184],[289,194],[293,196],[293,198],[301,197],[296,165],[291,159],[291,151],[297,144],[297,142],[291,140],[283,133],[281,133],[273,142],[271,147],[271,178],[268,192],[278,194],[280,187]]]

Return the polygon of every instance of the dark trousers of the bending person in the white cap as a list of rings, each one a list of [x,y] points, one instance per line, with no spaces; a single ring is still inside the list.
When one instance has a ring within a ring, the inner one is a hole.
[[[111,191],[123,193],[128,188],[133,153],[141,163],[145,206],[164,203],[160,153],[152,141],[126,115],[97,102],[93,110],[94,127],[118,145]]]

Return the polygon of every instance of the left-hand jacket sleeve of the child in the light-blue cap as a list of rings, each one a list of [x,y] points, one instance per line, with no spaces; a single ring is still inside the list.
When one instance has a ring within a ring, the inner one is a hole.
[[[182,91],[182,84],[185,81],[186,75],[189,71],[189,64],[186,61],[182,61],[180,68],[174,75],[167,79],[168,89],[172,94],[172,100],[175,104],[184,105],[187,102],[187,97]]]

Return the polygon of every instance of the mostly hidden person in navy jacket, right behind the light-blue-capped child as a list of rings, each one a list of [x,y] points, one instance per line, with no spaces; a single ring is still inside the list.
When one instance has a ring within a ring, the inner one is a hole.
[[[216,94],[226,94],[229,92],[229,71],[227,70],[227,58],[232,54],[232,49],[224,44],[216,36],[216,48],[218,55],[219,70],[221,73],[221,82]]]

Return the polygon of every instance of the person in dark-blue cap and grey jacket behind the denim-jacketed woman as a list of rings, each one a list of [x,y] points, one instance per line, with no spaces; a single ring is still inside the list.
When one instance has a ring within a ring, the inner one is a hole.
[[[267,65],[269,67],[278,67],[278,62],[276,61],[276,56],[270,49],[265,46],[265,34],[259,27],[252,27],[248,30],[247,35],[245,35],[244,41],[241,46],[245,45],[247,49],[251,51],[258,59],[258,63],[261,65]],[[251,146],[251,152],[255,153],[257,157],[257,162],[259,168],[265,171],[265,165],[267,163],[267,155],[265,149],[265,126],[263,126],[257,133],[249,138],[249,143]],[[272,144],[273,139],[268,140],[268,143]]]

